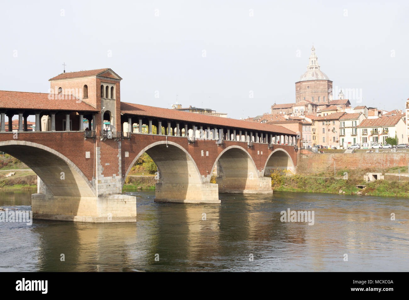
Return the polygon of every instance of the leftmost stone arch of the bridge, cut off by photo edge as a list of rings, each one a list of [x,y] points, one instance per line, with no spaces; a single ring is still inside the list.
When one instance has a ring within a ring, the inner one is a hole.
[[[0,151],[27,164],[53,196],[96,196],[92,183],[84,173],[54,149],[34,142],[8,140],[0,142]],[[64,172],[64,179],[61,179],[61,172]]]

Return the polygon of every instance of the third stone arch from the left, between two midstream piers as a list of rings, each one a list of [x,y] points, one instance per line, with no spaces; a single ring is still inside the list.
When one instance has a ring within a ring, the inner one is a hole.
[[[229,146],[216,158],[216,183],[219,191],[235,192],[256,189],[259,174],[252,156],[240,146]]]

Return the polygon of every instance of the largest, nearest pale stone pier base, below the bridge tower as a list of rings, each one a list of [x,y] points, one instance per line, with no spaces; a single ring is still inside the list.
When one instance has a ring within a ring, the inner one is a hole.
[[[136,222],[136,198],[113,194],[101,197],[31,195],[33,218],[77,222]]]

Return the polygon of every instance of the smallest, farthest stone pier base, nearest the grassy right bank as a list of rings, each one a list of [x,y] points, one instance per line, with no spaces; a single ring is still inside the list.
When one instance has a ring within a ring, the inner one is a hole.
[[[271,178],[216,178],[219,193],[272,194]]]

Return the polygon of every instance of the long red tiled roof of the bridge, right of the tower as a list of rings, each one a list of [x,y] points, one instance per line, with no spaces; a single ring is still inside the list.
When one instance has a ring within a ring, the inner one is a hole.
[[[131,115],[154,117],[167,120],[187,121],[193,124],[209,124],[215,126],[236,127],[243,129],[252,129],[260,131],[281,132],[287,134],[296,134],[295,132],[276,125],[266,125],[265,123],[248,122],[231,118],[223,118],[211,115],[202,115],[200,113],[190,113],[187,111],[178,111],[176,109],[167,109],[160,107],[147,106],[142,104],[134,104],[121,102],[121,113]]]

